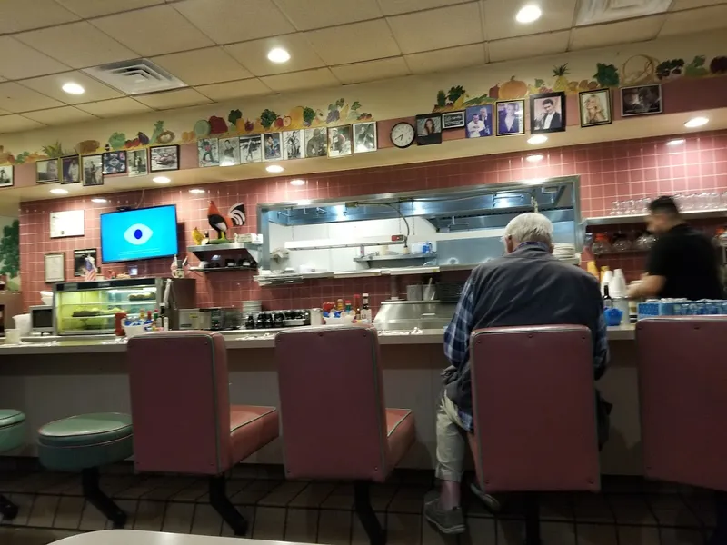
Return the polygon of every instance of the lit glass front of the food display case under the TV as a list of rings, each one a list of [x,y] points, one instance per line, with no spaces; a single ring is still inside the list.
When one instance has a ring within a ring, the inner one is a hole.
[[[163,278],[55,284],[55,334],[113,334],[115,314],[154,314],[162,306]]]

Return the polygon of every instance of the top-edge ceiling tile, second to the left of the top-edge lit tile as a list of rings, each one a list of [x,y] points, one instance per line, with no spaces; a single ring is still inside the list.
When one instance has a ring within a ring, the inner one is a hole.
[[[376,0],[275,0],[298,30],[345,25],[381,17]]]

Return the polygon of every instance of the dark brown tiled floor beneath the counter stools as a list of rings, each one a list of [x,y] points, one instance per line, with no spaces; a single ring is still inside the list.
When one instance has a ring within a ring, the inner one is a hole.
[[[102,482],[129,513],[126,528],[231,535],[210,507],[205,485],[188,477],[134,475],[131,464],[111,468]],[[254,538],[367,542],[349,483],[284,481],[281,468],[239,466],[228,491]],[[2,545],[45,545],[106,527],[85,503],[75,475],[19,467],[0,472],[0,492],[20,506],[15,520],[0,525]],[[390,545],[520,545],[516,500],[493,518],[470,499],[469,531],[457,540],[443,538],[423,520],[423,501],[435,493],[429,471],[398,471],[374,488],[373,507],[388,527]],[[601,494],[546,494],[541,504],[544,545],[702,545],[714,524],[709,492],[641,480],[604,478]]]

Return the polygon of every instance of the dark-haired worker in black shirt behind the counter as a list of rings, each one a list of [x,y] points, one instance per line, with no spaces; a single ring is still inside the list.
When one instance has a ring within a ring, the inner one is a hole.
[[[629,297],[722,299],[717,253],[710,239],[684,223],[672,197],[652,201],[649,211],[649,231],[659,238],[642,282],[632,287]]]

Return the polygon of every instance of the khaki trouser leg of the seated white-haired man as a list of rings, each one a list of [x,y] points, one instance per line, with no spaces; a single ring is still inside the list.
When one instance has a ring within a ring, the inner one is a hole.
[[[467,448],[467,431],[464,430],[457,406],[443,394],[437,409],[437,479],[462,481]]]

